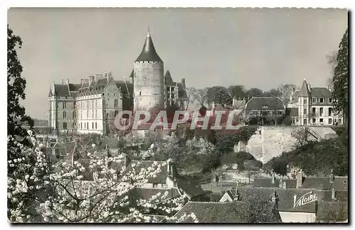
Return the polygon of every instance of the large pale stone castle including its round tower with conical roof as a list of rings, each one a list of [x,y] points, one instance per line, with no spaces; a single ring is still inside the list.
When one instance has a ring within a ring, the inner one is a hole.
[[[185,79],[173,82],[169,71],[164,75],[163,60],[148,30],[128,81],[116,81],[109,72],[89,76],[80,84],[69,80],[51,84],[48,126],[61,133],[107,135],[121,110],[148,110],[173,104],[185,109],[187,101]]]

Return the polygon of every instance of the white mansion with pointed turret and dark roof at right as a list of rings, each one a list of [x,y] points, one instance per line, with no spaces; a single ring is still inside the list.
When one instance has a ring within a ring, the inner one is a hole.
[[[332,92],[327,87],[311,87],[303,80],[300,90],[290,95],[287,109],[296,126],[333,126],[344,124],[341,113],[334,112]]]

